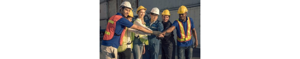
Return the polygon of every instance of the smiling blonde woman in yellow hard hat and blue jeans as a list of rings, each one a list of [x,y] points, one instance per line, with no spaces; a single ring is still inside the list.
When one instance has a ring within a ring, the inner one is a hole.
[[[142,26],[148,30],[151,30],[146,27],[146,23],[144,21],[144,16],[146,12],[146,8],[143,6],[140,6],[137,8],[137,14],[139,15],[137,19],[134,21],[135,25]],[[151,30],[152,31],[152,30]],[[145,45],[148,45],[148,37],[147,35],[141,35],[141,34],[133,34],[133,56],[134,59],[141,59],[142,54],[145,54]]]

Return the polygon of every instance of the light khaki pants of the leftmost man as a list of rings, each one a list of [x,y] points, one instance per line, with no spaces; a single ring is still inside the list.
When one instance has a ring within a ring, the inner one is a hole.
[[[103,59],[118,59],[118,50],[117,50],[117,48],[115,48],[113,46],[101,45],[101,50],[102,50]],[[113,51],[113,53],[115,53],[116,58],[113,58],[111,51]]]

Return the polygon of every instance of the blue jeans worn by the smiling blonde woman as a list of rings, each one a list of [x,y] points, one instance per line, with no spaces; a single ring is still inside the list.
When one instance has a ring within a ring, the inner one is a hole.
[[[143,43],[140,41],[140,39],[137,38],[134,38],[132,43],[133,43],[133,47],[132,47],[133,58],[141,59],[143,48],[144,48]]]

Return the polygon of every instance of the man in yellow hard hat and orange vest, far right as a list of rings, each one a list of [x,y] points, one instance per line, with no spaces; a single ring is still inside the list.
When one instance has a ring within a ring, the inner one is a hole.
[[[187,17],[187,8],[181,6],[178,9],[179,18],[175,20],[170,28],[164,31],[162,34],[171,33],[176,29],[177,33],[177,57],[178,59],[192,59],[193,52],[193,40],[192,34],[195,38],[194,48],[198,46],[197,33],[194,27],[193,19]],[[191,33],[192,32],[192,33]]]

